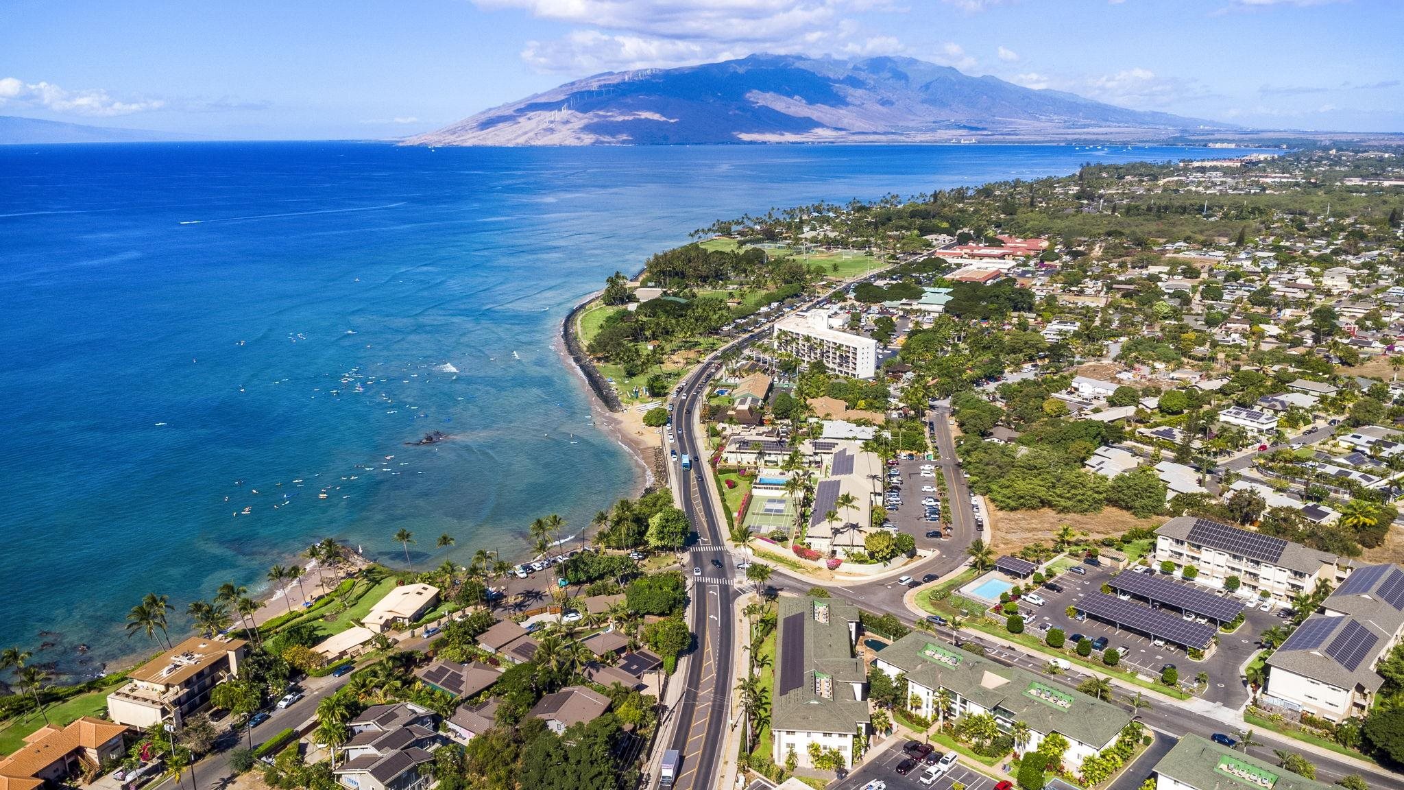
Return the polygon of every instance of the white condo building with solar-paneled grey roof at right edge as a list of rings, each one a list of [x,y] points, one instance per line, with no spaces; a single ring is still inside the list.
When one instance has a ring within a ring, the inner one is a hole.
[[[1264,700],[1318,718],[1363,717],[1384,679],[1379,662],[1404,633],[1404,568],[1366,565],[1271,656]]]

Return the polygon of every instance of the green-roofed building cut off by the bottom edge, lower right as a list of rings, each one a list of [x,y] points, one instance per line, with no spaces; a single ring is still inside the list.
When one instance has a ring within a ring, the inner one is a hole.
[[[1332,790],[1271,762],[1186,732],[1155,763],[1155,790]]]

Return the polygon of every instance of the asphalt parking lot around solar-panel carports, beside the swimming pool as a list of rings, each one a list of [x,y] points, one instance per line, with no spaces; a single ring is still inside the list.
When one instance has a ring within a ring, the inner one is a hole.
[[[1220,631],[1219,647],[1205,661],[1191,661],[1185,655],[1185,651],[1177,645],[1168,642],[1155,645],[1148,637],[1134,631],[1119,630],[1092,617],[1087,617],[1085,620],[1070,619],[1066,614],[1067,607],[1077,606],[1078,599],[1084,595],[1101,590],[1102,583],[1115,574],[1109,566],[1081,565],[1081,568],[1085,571],[1085,575],[1064,572],[1053,579],[1054,583],[1063,588],[1063,592],[1053,592],[1047,588],[1039,589],[1038,595],[1045,600],[1043,606],[1033,606],[1026,602],[1019,603],[1019,611],[1024,614],[1026,624],[1025,633],[1042,638],[1049,628],[1063,628],[1063,633],[1068,637],[1068,644],[1071,644],[1074,634],[1082,634],[1092,641],[1098,637],[1105,637],[1108,648],[1122,648],[1119,662],[1122,666],[1134,668],[1151,678],[1160,678],[1164,665],[1174,663],[1179,672],[1179,682],[1186,690],[1193,686],[1195,676],[1205,672],[1209,675],[1209,689],[1203,693],[1205,699],[1230,707],[1247,700],[1248,690],[1244,686],[1240,668],[1258,649],[1258,634],[1271,626],[1280,624],[1276,611],[1247,610],[1244,614],[1247,621],[1233,634]],[[1047,627],[1045,628],[1045,626]],[[1094,652],[1092,658],[1098,659],[1101,654]]]

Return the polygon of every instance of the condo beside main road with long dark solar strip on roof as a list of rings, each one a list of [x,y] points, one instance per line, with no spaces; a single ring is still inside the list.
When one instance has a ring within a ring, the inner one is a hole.
[[[775,694],[771,703],[771,759],[793,753],[813,768],[809,745],[837,749],[854,765],[854,738],[868,737],[868,676],[854,655],[858,609],[820,597],[779,599],[775,638]]]

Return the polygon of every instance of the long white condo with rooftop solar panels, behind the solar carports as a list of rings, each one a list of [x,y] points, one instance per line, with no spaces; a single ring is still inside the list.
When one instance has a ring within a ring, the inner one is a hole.
[[[1300,543],[1265,536],[1209,519],[1179,516],[1155,530],[1155,562],[1193,565],[1202,585],[1223,588],[1237,576],[1240,595],[1289,603],[1317,582],[1332,586],[1351,572],[1351,561]],[[1264,595],[1266,593],[1266,595]]]

